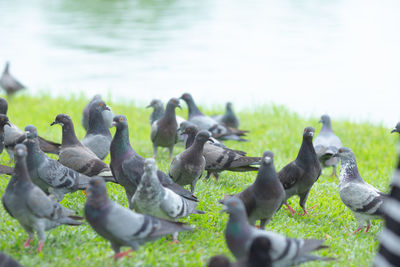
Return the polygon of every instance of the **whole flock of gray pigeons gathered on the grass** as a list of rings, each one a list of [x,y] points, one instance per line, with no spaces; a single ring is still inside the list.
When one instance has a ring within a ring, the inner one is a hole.
[[[16,92],[22,86],[13,79],[7,63],[0,79],[7,93]],[[16,87],[13,89],[13,86]],[[180,108],[180,99],[188,106],[187,120],[175,114],[175,109]],[[265,151],[262,157],[249,157],[246,152],[228,148],[221,142],[246,141],[248,131],[238,128],[239,119],[231,103],[227,104],[224,115],[215,117],[204,115],[189,93],[179,99],[171,98],[165,110],[160,100],[153,100],[149,107],[153,108],[150,138],[154,157],[145,159],[130,145],[127,118],[114,116],[100,96],[95,96],[83,111],[82,125],[87,133],[82,140],[77,138],[67,114],[55,117],[51,125],[61,126],[61,144],[41,138],[33,125],[26,126],[24,131],[18,129],[7,117],[7,101],[0,98],[0,153],[5,148],[10,162],[15,161],[14,168],[0,166],[1,173],[12,176],[2,203],[28,233],[24,247],[30,246],[36,232],[40,240],[37,250],[41,252],[45,231],[62,224],[83,223],[83,217],[60,204],[65,194],[78,190],[86,190],[86,221],[110,241],[115,259],[165,235],[171,234],[174,242],[178,242],[179,232],[194,230],[178,219],[204,214],[196,209],[199,200],[195,188],[205,171],[206,178],[213,175],[216,179],[222,171],[256,171],[253,184],[220,200],[223,210],[229,214],[226,243],[237,262],[231,263],[227,257],[218,255],[210,259],[208,266],[291,266],[334,260],[310,254],[326,248],[324,240],[287,238],[265,227],[283,205],[292,216],[297,213],[287,203],[295,195],[299,196],[301,215],[308,215],[307,198],[322,168],[332,167],[332,176],[336,176],[341,161],[339,194],[358,222],[355,233],[363,230],[364,224],[368,232],[371,219],[384,217],[387,229],[381,235],[384,238],[381,238],[375,264],[396,266],[400,262],[400,159],[392,192],[386,195],[362,179],[353,151],[342,146],[327,115],[321,117],[322,129],[315,138],[314,128],[304,129],[296,159],[276,172],[271,151]],[[114,136],[110,127],[116,127]],[[400,123],[392,132],[400,133]],[[184,143],[185,150],[173,157],[178,142]],[[169,150],[172,162],[168,173],[157,168],[158,147]],[[57,154],[59,158],[54,160],[46,153]],[[109,165],[103,161],[108,154]],[[106,182],[117,183],[125,189],[129,208],[110,200]],[[184,188],[186,185],[190,191]],[[123,246],[131,250],[121,252]],[[0,256],[0,265],[6,261],[12,260]]]

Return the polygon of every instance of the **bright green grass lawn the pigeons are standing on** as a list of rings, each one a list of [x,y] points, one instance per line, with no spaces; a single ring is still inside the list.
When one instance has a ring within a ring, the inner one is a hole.
[[[61,141],[59,126],[50,127],[58,113],[69,114],[75,122],[78,137],[84,136],[81,127],[81,112],[87,99],[71,96],[68,99],[41,96],[18,96],[9,103],[10,120],[24,128],[34,124],[41,136],[50,140]],[[130,140],[133,148],[144,157],[152,156],[150,141],[150,110],[138,107],[133,102],[108,103],[116,114],[128,118]],[[183,106],[185,106],[183,104]],[[223,106],[207,110],[213,114],[222,112]],[[180,115],[186,117],[186,108]],[[317,123],[319,115],[304,118],[288,111],[282,106],[259,106],[244,110],[238,114],[241,129],[250,130],[249,142],[226,142],[229,147],[248,152],[248,155],[260,156],[263,151],[275,153],[275,166],[280,170],[294,160],[300,147],[302,132],[306,126],[314,126],[319,132]],[[351,147],[356,154],[358,167],[364,180],[376,188],[387,191],[395,160],[395,143],[397,138],[387,128],[370,123],[355,124],[348,121],[333,120],[333,128],[345,146]],[[114,133],[114,129],[112,129]],[[183,147],[177,146],[175,154]],[[7,164],[8,155],[0,155],[1,164]],[[106,162],[109,163],[109,157]],[[168,153],[159,151],[158,166],[168,171]],[[326,169],[324,174],[330,174]],[[188,224],[195,226],[193,232],[179,235],[178,245],[170,244],[171,238],[162,238],[147,243],[132,253],[131,258],[118,261],[118,266],[204,266],[208,259],[217,254],[225,254],[233,259],[224,239],[227,214],[220,214],[218,200],[225,194],[237,193],[250,185],[256,172],[221,173],[218,182],[215,179],[200,180],[196,186],[196,195],[200,200],[199,209],[204,215],[192,215],[185,218]],[[4,193],[9,177],[0,176],[0,194]],[[108,184],[110,198],[127,206],[124,190],[119,185]],[[69,194],[62,204],[83,215],[85,196],[81,192]],[[289,203],[298,211],[298,199],[292,198]],[[369,266],[378,245],[377,234],[382,230],[383,222],[374,221],[370,233],[353,234],[357,227],[352,213],[347,209],[338,194],[338,181],[335,178],[321,176],[311,190],[307,207],[311,217],[291,217],[289,212],[281,209],[267,225],[267,229],[290,237],[323,238],[330,249],[319,252],[337,258],[336,262],[309,263],[306,266]],[[108,241],[97,235],[88,224],[80,227],[62,226],[47,232],[44,251],[36,252],[38,240],[32,242],[29,249],[23,248],[27,234],[19,223],[0,208],[0,251],[11,255],[26,266],[112,266],[110,258],[113,251]]]

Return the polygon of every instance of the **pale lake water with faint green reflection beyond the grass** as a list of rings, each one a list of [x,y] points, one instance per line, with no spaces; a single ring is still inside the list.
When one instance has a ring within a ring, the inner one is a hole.
[[[0,0],[0,64],[31,92],[283,104],[400,120],[400,1]]]

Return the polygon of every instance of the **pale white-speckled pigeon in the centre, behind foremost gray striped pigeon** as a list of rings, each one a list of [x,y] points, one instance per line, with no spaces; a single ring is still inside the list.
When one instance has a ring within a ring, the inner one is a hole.
[[[190,214],[204,214],[195,209],[197,201],[184,198],[161,185],[154,159],[144,161],[144,174],[131,202],[136,212],[170,221]],[[177,242],[175,235],[174,241]]]

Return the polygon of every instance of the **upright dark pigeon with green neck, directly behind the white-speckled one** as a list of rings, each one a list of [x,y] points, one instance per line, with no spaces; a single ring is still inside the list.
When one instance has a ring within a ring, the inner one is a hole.
[[[131,199],[144,173],[144,158],[138,155],[129,143],[128,120],[126,117],[123,115],[115,116],[113,124],[117,130],[110,146],[110,167],[115,179],[124,187],[128,202],[130,203],[129,207],[132,208]],[[192,193],[175,184],[162,171],[158,170],[157,176],[165,188],[191,201],[198,201]]]

